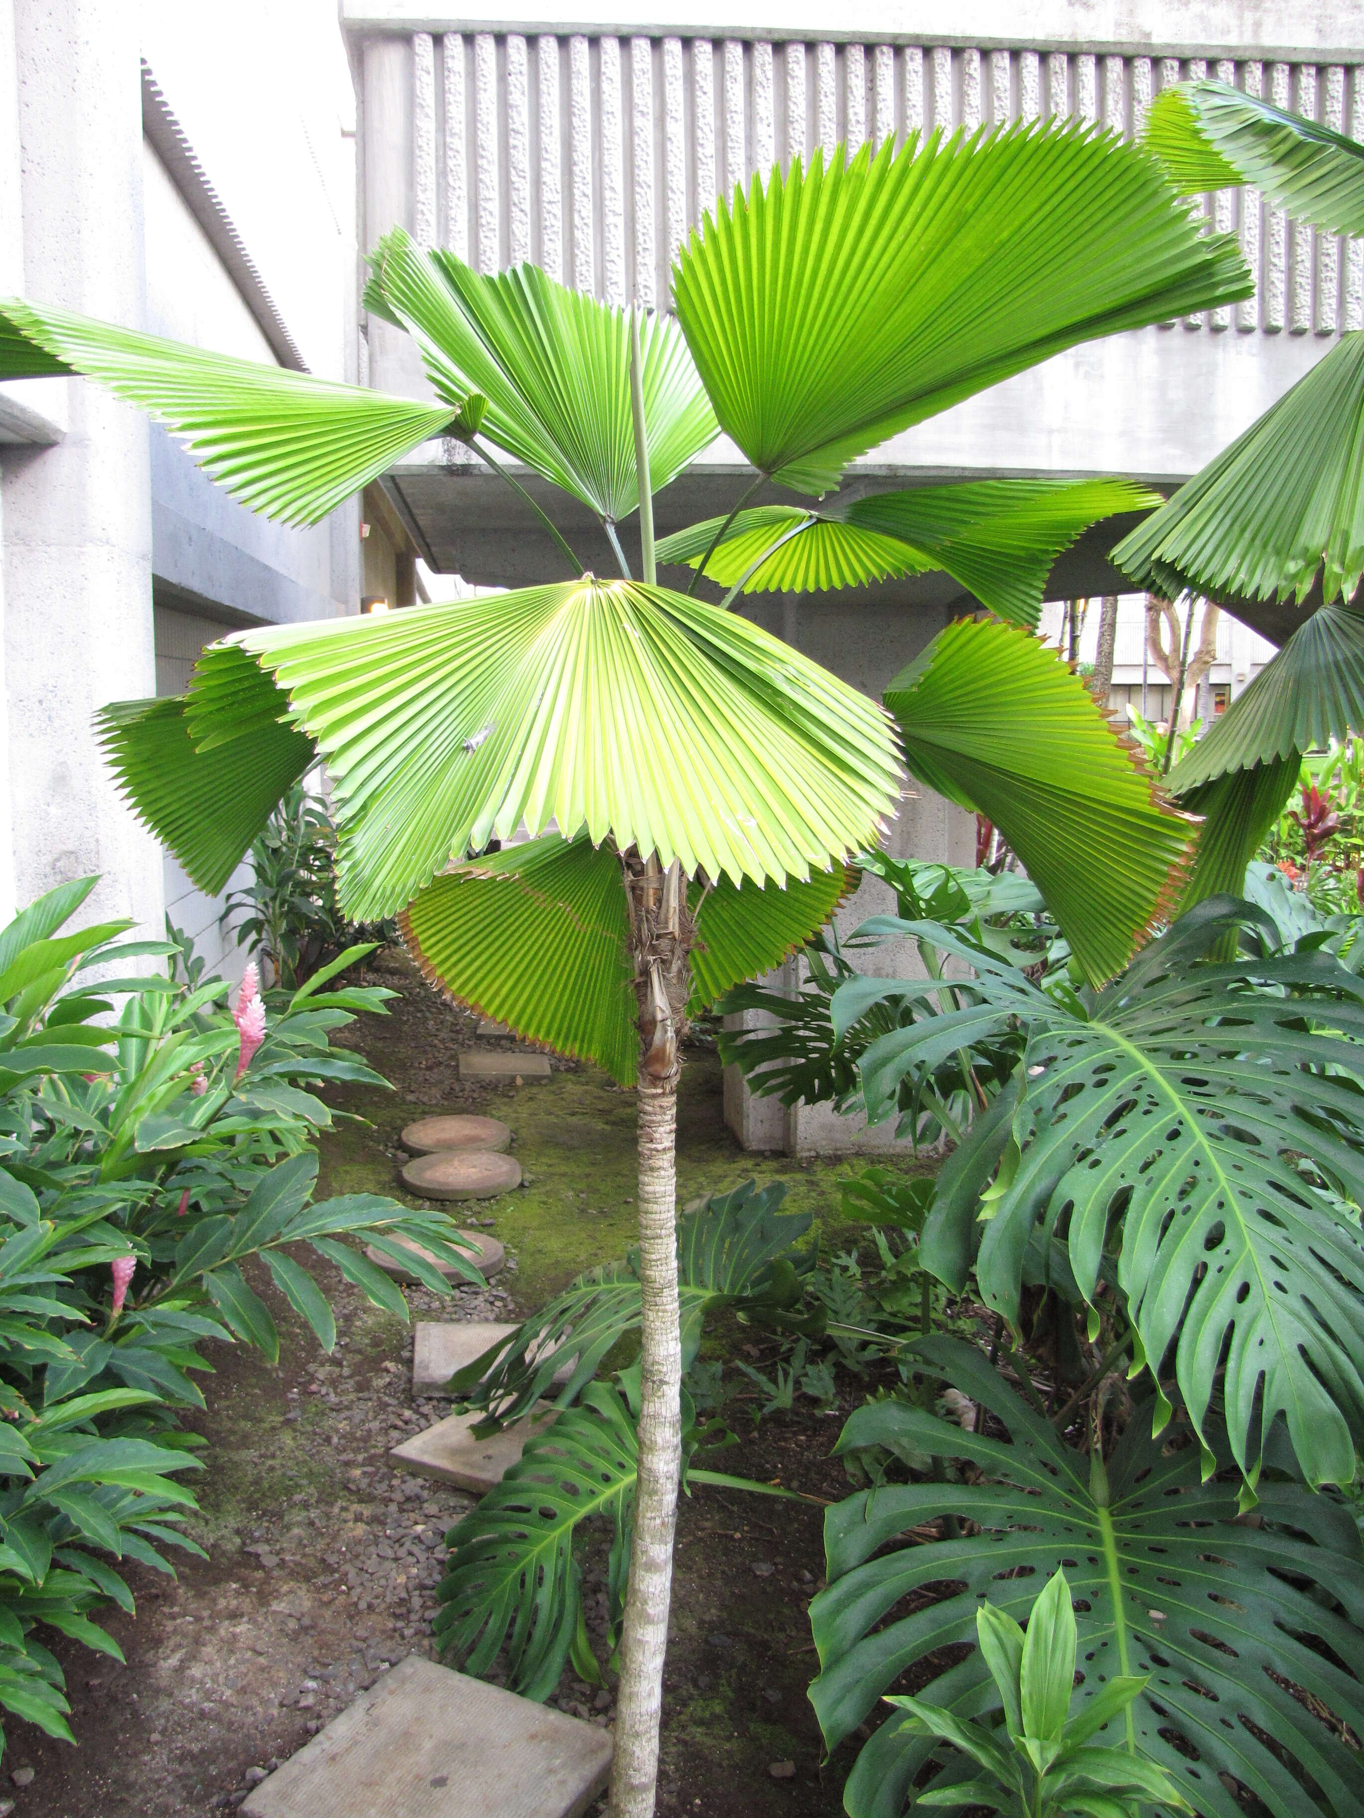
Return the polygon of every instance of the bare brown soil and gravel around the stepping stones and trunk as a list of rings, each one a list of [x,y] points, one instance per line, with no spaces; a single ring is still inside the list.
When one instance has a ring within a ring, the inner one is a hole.
[[[376,954],[367,982],[400,996],[391,1016],[362,1018],[347,1034],[395,1093],[333,1094],[338,1111],[364,1122],[340,1122],[324,1136],[320,1194],[364,1187],[404,1198],[398,1133],[435,1105],[509,1122],[526,1171],[518,1193],[471,1209],[507,1245],[507,1269],[487,1291],[466,1287],[446,1302],[413,1291],[415,1314],[524,1316],[580,1269],[622,1254],[633,1227],[631,1094],[595,1069],[558,1062],[540,1085],[462,1085],[458,1051],[480,1040],[475,1020],[442,1004],[396,953]],[[787,1209],[837,1218],[835,1182],[846,1167],[742,1154],[724,1127],[713,1054],[689,1054],[678,1122],[684,1200],[747,1176],[782,1178]],[[125,1665],[49,1638],[67,1673],[78,1747],[7,1725],[0,1818],[229,1811],[396,1660],[435,1656],[442,1536],[469,1500],[395,1473],[387,1449],[440,1418],[444,1403],[413,1402],[411,1329],[369,1307],[335,1271],[316,1273],[336,1307],[336,1351],[326,1358],[267,1278],[255,1280],[280,1325],[280,1364],[209,1347],[207,1409],[186,1422],[206,1442],[196,1480],[204,1513],[193,1536],[209,1556],[186,1558],[175,1582],[129,1569],[136,1614],[107,1616]],[[740,1342],[758,1362],[773,1354],[749,1333],[720,1340]],[[827,1414],[797,1402],[793,1414],[746,1427],[720,1467],[837,1500],[847,1480],[829,1451],[864,1393],[849,1382]],[[822,1583],[820,1533],[815,1502],[715,1489],[684,1502],[662,1813],[842,1811],[855,1745],[822,1763],[806,1700],[817,1671],[806,1609]],[[600,1542],[589,1542],[586,1565],[589,1618],[600,1633]],[[557,1702],[611,1722],[609,1696],[571,1674]]]

